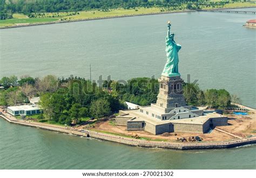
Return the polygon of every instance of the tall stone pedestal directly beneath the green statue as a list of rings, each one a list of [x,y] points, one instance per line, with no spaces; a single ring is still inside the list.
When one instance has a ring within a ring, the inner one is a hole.
[[[183,96],[182,83],[180,76],[167,77],[162,75],[159,81],[159,94],[157,96],[157,106],[170,112],[173,108],[186,106]]]

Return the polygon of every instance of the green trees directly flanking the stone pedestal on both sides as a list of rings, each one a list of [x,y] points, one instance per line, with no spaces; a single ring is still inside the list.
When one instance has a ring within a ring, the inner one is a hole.
[[[103,87],[111,88],[122,101],[128,101],[138,105],[150,105],[157,101],[159,83],[156,79],[134,78],[126,84],[116,81],[105,81]],[[210,108],[225,109],[231,102],[241,103],[236,95],[230,95],[225,89],[201,90],[198,84],[183,83],[183,95],[189,105],[208,105]]]

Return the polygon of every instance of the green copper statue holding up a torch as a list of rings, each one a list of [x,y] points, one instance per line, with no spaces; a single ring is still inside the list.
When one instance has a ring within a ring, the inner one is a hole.
[[[179,63],[179,56],[178,52],[181,49],[181,45],[176,44],[174,41],[174,34],[170,34],[171,29],[171,23],[168,22],[168,31],[166,36],[166,56],[167,61],[163,70],[163,73],[161,75],[164,76],[179,76],[179,70],[178,70],[178,63]]]

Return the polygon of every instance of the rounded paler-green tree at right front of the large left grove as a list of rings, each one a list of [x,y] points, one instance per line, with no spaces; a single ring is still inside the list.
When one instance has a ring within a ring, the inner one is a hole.
[[[96,118],[107,116],[111,112],[110,104],[106,99],[97,99],[91,103],[90,112]]]

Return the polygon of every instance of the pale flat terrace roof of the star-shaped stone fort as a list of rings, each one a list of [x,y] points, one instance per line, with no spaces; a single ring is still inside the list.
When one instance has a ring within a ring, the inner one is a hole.
[[[145,122],[148,122],[153,125],[161,125],[161,124],[167,124],[167,123],[203,125],[209,118],[223,117],[223,115],[220,115],[214,112],[214,113],[207,113],[207,115],[204,115],[204,116],[193,117],[193,118],[176,119],[176,120],[160,120],[157,118],[150,117],[149,115],[145,115],[145,113],[142,113],[139,110],[126,110],[123,112],[129,114],[129,115],[125,115],[125,117],[131,117],[131,118],[135,117],[133,121],[144,120]]]

